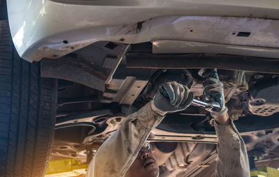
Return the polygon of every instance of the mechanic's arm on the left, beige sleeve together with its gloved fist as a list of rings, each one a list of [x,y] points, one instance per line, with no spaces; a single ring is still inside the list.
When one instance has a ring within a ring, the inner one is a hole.
[[[88,177],[124,176],[151,130],[156,128],[165,114],[186,109],[193,101],[193,93],[176,82],[167,82],[160,88],[167,91],[169,98],[158,91],[151,102],[128,116],[119,130],[96,152],[89,164]]]

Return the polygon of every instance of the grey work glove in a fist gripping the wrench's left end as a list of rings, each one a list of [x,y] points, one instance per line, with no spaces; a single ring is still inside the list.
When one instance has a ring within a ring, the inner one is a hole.
[[[159,86],[159,89],[151,100],[151,108],[161,116],[168,112],[182,111],[192,102],[194,93],[186,86],[177,82],[166,82]]]

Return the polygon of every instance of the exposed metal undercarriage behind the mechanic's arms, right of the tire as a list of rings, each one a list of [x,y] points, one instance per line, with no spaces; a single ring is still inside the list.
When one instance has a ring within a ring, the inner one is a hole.
[[[149,102],[163,82],[176,81],[188,85],[195,98],[203,100],[204,78],[199,75],[201,68],[198,66],[212,68],[218,66],[212,63],[214,60],[218,63],[221,60],[248,59],[259,62],[258,66],[262,66],[259,72],[257,63],[252,70],[241,62],[234,66],[228,64],[228,68],[225,65],[218,68],[229,116],[256,165],[278,167],[277,67],[272,70],[272,67],[262,65],[264,59],[247,56],[156,55],[152,54],[151,46],[151,43],[122,45],[103,41],[63,59],[41,61],[44,77],[60,78],[52,160],[67,157],[90,162],[98,146],[119,128],[126,116]],[[90,56],[85,55],[86,51]],[[98,54],[98,57],[93,54]],[[205,62],[199,65],[197,59]],[[278,60],[272,62],[278,63]],[[239,69],[233,70],[237,65]],[[70,67],[78,69],[63,69]],[[273,73],[263,72],[265,67],[271,68]],[[87,79],[86,72],[91,73],[90,79]],[[104,90],[98,82],[100,78],[91,78],[92,73],[95,77],[101,77],[99,73],[108,76],[108,79],[103,79]],[[77,78],[83,75],[84,80],[73,80],[73,75]],[[217,157],[217,138],[212,121],[209,112],[197,105],[176,114],[167,114],[148,139],[156,147],[160,176],[212,174]]]

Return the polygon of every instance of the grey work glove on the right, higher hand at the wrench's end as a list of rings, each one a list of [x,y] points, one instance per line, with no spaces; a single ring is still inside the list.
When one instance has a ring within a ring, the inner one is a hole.
[[[220,104],[220,110],[211,110],[211,116],[218,117],[225,114],[227,112],[227,107],[225,106],[223,83],[220,82],[219,79],[208,78],[204,81],[203,86],[205,99],[209,101],[219,102]]]

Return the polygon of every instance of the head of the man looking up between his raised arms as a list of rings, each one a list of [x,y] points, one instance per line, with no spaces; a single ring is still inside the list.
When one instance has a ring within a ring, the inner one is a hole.
[[[125,177],[157,177],[159,167],[154,157],[154,151],[148,142],[142,146],[137,159],[126,172]]]

